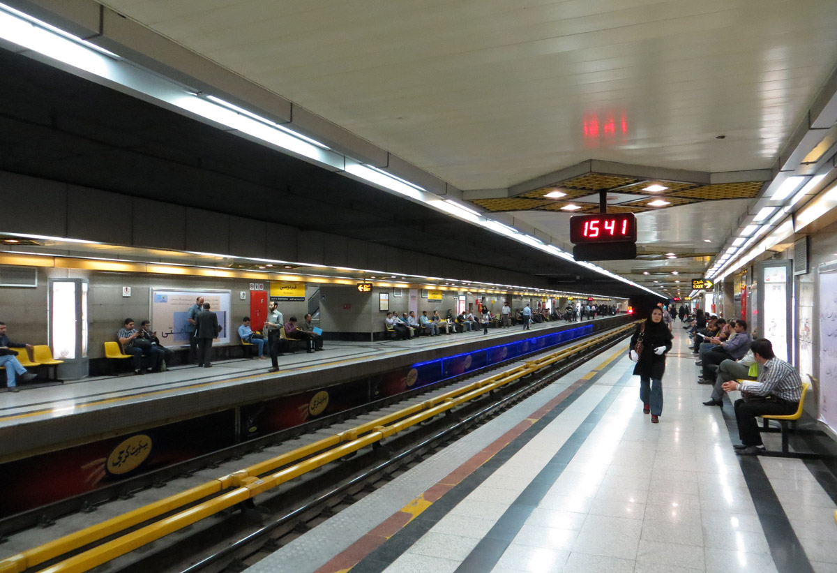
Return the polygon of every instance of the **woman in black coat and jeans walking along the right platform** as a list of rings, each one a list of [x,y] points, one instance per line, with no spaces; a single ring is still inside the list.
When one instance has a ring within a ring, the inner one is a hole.
[[[643,340],[642,354],[634,348]],[[630,339],[630,359],[636,363],[634,374],[639,374],[639,400],[642,400],[645,414],[650,412],[651,423],[660,421],[663,413],[663,374],[665,354],[671,349],[671,331],[663,323],[663,311],[655,307],[644,323],[638,324]]]

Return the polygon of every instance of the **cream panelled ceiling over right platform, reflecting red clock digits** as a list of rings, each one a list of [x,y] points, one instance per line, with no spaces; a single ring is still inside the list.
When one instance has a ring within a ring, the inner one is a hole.
[[[105,5],[466,191],[590,159],[772,168],[837,63],[833,0]],[[640,252],[700,276],[690,254],[720,250],[760,188],[739,180],[745,199],[635,209]],[[565,214],[533,209],[514,224],[567,235]],[[642,270],[670,266],[640,263],[603,266],[655,287]]]

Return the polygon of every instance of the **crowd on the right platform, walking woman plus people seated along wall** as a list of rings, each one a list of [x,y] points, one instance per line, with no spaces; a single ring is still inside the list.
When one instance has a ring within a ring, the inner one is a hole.
[[[735,400],[738,435],[742,443],[733,448],[740,455],[764,452],[758,430],[759,416],[788,416],[798,410],[803,385],[796,369],[773,352],[767,338],[753,338],[747,321],[718,317],[686,305],[675,312],[673,306],[660,303],[650,316],[634,329],[629,343],[629,358],[639,374],[639,399],[644,414],[659,423],[663,409],[662,379],[666,355],[672,348],[673,316],[680,317],[692,352],[701,367],[697,383],[711,385],[711,396],[703,405],[724,405],[724,394],[740,391]]]

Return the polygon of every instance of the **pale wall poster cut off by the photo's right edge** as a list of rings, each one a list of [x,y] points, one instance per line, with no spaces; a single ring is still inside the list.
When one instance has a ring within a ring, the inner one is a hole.
[[[837,431],[837,272],[819,273],[819,419]]]

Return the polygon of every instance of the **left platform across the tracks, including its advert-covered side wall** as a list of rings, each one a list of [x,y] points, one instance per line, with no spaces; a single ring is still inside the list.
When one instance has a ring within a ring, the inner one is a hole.
[[[326,341],[322,352],[281,356],[276,373],[267,372],[270,360],[235,359],[212,369],[183,366],[5,393],[0,487],[12,494],[0,503],[0,514],[121,483],[631,320],[621,315],[526,331],[517,326],[407,341]],[[63,475],[62,488],[53,486],[56,472]]]

